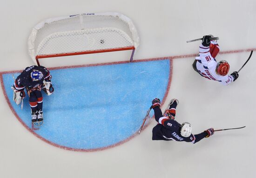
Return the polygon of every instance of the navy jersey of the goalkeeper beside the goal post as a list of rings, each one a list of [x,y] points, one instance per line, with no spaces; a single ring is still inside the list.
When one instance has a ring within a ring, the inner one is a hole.
[[[42,79],[38,81],[33,81],[31,79],[31,72],[33,70],[38,70],[43,74]],[[16,90],[24,90],[26,87],[27,89],[33,89],[42,86],[43,80],[51,81],[52,76],[50,75],[50,72],[45,68],[44,66],[30,66],[26,67],[20,75],[15,79],[14,87]]]

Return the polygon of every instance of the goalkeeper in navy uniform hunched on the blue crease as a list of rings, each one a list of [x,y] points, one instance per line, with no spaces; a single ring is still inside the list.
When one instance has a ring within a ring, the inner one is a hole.
[[[40,126],[43,122],[43,97],[41,89],[47,95],[51,95],[54,92],[51,79],[52,76],[47,68],[43,66],[30,66],[20,73],[12,86],[13,100],[17,105],[24,99],[24,89],[26,88],[31,107],[32,122],[36,126]]]

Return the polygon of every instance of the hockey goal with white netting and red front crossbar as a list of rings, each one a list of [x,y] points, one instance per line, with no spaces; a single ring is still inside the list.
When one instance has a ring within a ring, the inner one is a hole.
[[[86,13],[47,19],[34,26],[28,51],[39,59],[90,53],[132,50],[139,46],[133,22],[120,13]]]

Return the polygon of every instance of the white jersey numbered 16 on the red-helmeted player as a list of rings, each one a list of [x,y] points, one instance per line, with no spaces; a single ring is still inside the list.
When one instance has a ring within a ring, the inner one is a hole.
[[[199,46],[199,56],[195,58],[197,60],[196,68],[203,77],[219,81],[223,85],[229,85],[234,80],[231,75],[221,76],[216,73],[217,62],[213,56],[216,57],[218,52],[219,45],[215,41],[211,41],[211,45],[208,47],[201,44]]]

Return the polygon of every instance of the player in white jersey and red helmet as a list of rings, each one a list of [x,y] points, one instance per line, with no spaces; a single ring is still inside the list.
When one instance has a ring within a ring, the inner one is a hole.
[[[214,40],[209,40],[212,35],[202,38],[202,45],[199,46],[199,56],[195,58],[193,69],[203,77],[229,85],[238,78],[238,73],[229,73],[229,63],[225,60],[216,62],[216,55],[219,53],[219,45]]]

